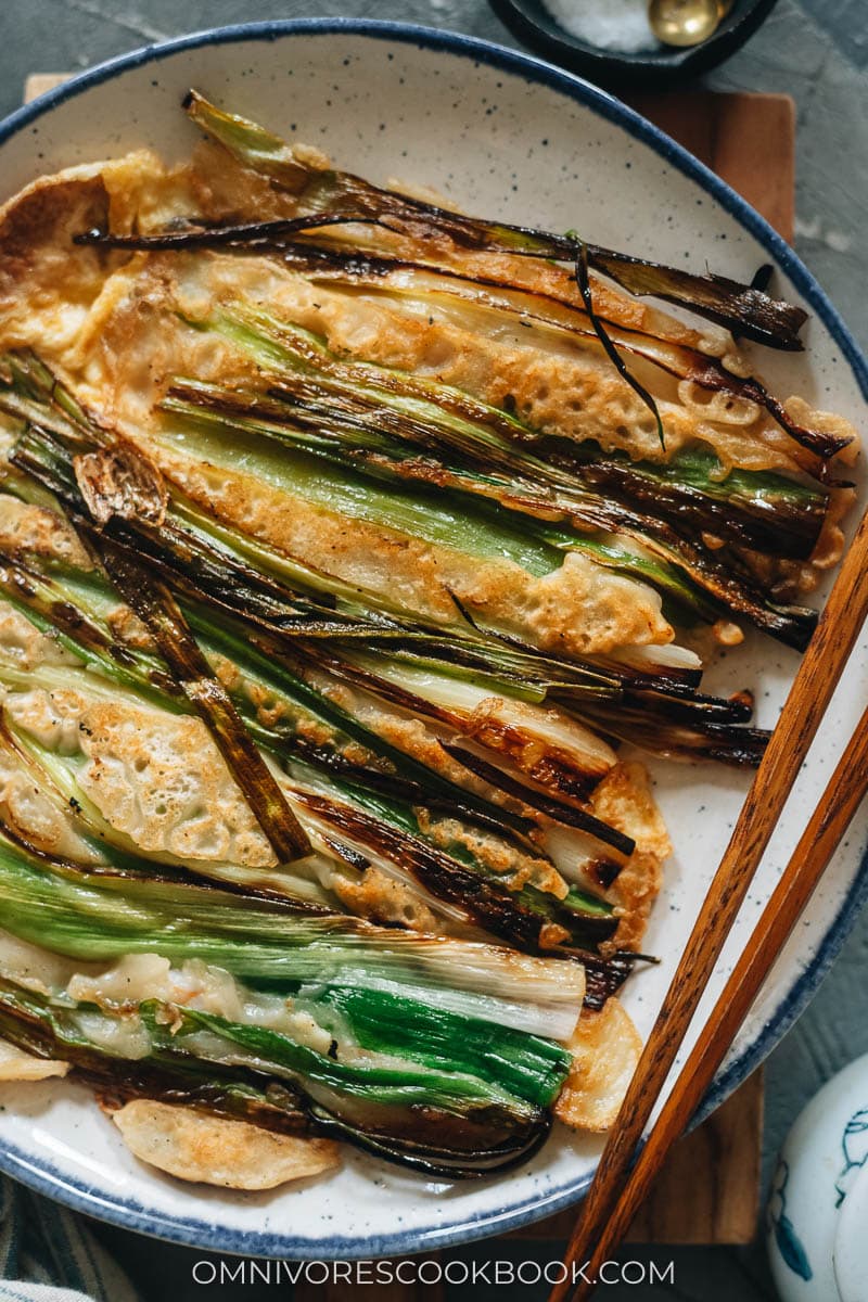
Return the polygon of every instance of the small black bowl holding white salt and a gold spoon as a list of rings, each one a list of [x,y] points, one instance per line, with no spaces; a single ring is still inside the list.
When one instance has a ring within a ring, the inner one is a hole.
[[[777,0],[735,0],[713,36],[701,46],[639,55],[591,46],[552,17],[543,0],[489,0],[492,9],[519,40],[554,64],[610,90],[666,90],[716,68],[752,36]]]

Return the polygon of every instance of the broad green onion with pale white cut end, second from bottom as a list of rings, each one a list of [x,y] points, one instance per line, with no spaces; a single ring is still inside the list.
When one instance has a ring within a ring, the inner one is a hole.
[[[39,859],[1,835],[0,887],[7,931],[78,961],[198,958],[241,980],[288,990],[397,982],[432,992],[424,997],[452,1012],[563,1040],[584,992],[583,969],[571,961],[302,914],[204,884],[92,876]]]

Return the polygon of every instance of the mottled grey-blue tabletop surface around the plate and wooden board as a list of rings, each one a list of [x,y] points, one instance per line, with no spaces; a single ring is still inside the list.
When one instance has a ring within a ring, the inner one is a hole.
[[[29,72],[77,72],[137,46],[232,22],[314,14],[392,18],[449,27],[501,44],[518,42],[484,0],[0,0],[0,116],[21,103]],[[864,253],[868,214],[868,0],[781,0],[760,33],[727,64],[704,78],[718,90],[781,91],[798,107],[796,247],[868,349]],[[856,924],[816,1000],[772,1055],[766,1069],[765,1170],[802,1105],[835,1070],[868,1052],[865,974],[868,917]],[[203,1254],[156,1245],[112,1230],[105,1234],[147,1302],[265,1302],[292,1297],[273,1284],[197,1285]],[[561,1245],[513,1242],[509,1254],[476,1243],[449,1254],[484,1262],[560,1258]],[[648,1249],[629,1256],[649,1260]],[[773,1299],[761,1241],[750,1249],[655,1249],[675,1260],[675,1284],[612,1286],[606,1302],[760,1302]],[[376,1302],[377,1289],[371,1289]],[[424,1302],[424,1288],[419,1299]],[[449,1302],[536,1302],[545,1285],[448,1288]],[[334,1302],[332,1294],[329,1302]]]

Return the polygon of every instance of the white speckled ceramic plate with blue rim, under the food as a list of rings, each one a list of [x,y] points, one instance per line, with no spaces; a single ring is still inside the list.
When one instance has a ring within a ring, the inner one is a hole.
[[[776,289],[811,311],[803,357],[764,354],[763,372],[863,423],[868,370],[804,267],[731,190],[653,126],[583,82],[463,36],[392,23],[314,20],[190,36],[126,56],[53,91],[0,126],[5,198],[43,172],[148,145],[183,156],[194,133],[178,104],[189,86],[276,130],[327,148],[375,180],[426,182],[471,211],[553,229],[678,266],[750,279],[777,267]],[[864,496],[864,483],[861,488]],[[774,723],[796,659],[750,641],[707,682],[757,693]],[[795,844],[868,697],[868,646],[854,654],[772,844],[724,971]],[[645,1032],[743,799],[744,776],[652,766],[675,844],[647,948],[658,967],[634,976],[626,1004]],[[868,894],[865,816],[854,825],[707,1100],[716,1107],[804,1008]],[[709,1000],[714,991],[709,991]],[[705,1005],[708,1006],[708,1005]],[[418,1251],[514,1228],[574,1202],[600,1151],[558,1130],[500,1181],[437,1185],[349,1152],[332,1180],[271,1195],[181,1185],[139,1165],[88,1094],[69,1083],[3,1088],[0,1167],[107,1220],[251,1255],[346,1258]]]

